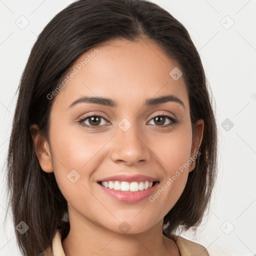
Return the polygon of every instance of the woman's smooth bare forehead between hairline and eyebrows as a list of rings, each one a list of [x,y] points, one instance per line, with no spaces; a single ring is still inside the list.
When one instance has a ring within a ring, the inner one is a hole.
[[[66,108],[73,100],[87,95],[112,98],[122,106],[130,101],[144,103],[145,98],[173,94],[187,105],[182,75],[177,80],[170,75],[175,68],[181,69],[158,45],[148,40],[111,40],[76,59],[66,73],[66,82],[62,82],[64,86],[55,96],[54,104]]]

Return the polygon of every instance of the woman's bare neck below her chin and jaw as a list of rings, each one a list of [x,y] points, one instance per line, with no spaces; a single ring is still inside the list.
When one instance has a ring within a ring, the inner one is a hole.
[[[144,232],[130,234],[111,231],[78,214],[71,216],[70,231],[62,240],[65,256],[180,255],[175,242],[162,234],[162,219]]]

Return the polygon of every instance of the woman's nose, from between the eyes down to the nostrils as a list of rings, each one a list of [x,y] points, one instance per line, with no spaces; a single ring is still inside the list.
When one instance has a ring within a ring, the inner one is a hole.
[[[122,160],[129,164],[141,160],[149,160],[150,152],[146,142],[141,137],[141,132],[135,123],[123,118],[117,127],[115,143],[111,157],[113,161]]]

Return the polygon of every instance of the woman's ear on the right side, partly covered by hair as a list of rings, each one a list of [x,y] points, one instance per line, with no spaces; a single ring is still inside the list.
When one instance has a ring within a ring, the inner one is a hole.
[[[204,121],[202,119],[199,119],[196,121],[195,124],[195,130],[192,138],[192,146],[191,146],[191,152],[190,157],[192,160],[192,163],[190,164],[188,171],[192,171],[195,167],[195,159],[193,156],[196,155],[196,152],[198,151],[201,142],[202,142],[202,135],[203,135],[203,127],[204,127]]]

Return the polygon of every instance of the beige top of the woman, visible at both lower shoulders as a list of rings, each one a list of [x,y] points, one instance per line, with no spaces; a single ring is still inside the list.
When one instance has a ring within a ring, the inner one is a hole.
[[[179,248],[181,256],[209,256],[206,248],[199,243],[190,241],[181,236],[175,236],[174,241]],[[52,240],[52,250],[50,247],[45,251],[45,256],[65,256],[61,244],[61,235],[59,230],[56,231]]]

